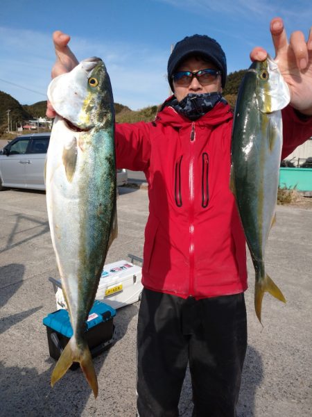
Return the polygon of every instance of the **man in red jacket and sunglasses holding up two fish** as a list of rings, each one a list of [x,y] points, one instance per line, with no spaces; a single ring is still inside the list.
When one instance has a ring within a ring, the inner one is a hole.
[[[270,30],[291,90],[283,111],[283,158],[312,135],[312,33],[288,44],[281,19]],[[69,36],[53,35],[52,75],[77,60]],[[252,60],[266,51],[253,49]],[[137,409],[141,417],[178,416],[187,363],[193,416],[236,416],[247,346],[243,292],[245,238],[229,191],[232,111],[221,93],[227,66],[205,35],[184,38],[168,60],[174,92],[154,122],[116,125],[118,167],[148,181],[143,284],[138,320]],[[53,109],[48,105],[48,116]]]

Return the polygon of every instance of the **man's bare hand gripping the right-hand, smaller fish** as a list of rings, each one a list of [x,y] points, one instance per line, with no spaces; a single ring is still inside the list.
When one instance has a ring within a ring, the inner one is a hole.
[[[275,62],[291,91],[291,106],[300,113],[312,115],[312,27],[306,41],[304,34],[295,31],[287,40],[283,20],[275,17],[270,23]],[[261,47],[252,49],[251,60],[265,60],[267,52]]]

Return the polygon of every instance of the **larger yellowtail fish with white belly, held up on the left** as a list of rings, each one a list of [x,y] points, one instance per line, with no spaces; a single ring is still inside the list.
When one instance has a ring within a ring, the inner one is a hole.
[[[76,361],[96,397],[98,382],[84,338],[85,321],[116,237],[114,105],[103,61],[88,58],[56,77],[48,97],[58,115],[46,161],[46,204],[73,328],[51,385]]]

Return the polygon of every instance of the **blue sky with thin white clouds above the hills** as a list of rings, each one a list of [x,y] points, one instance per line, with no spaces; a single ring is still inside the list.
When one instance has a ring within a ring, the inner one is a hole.
[[[171,44],[184,36],[218,40],[233,72],[249,67],[254,46],[274,56],[272,17],[284,19],[288,36],[301,30],[307,38],[312,25],[311,0],[1,0],[0,5],[0,90],[21,104],[46,99],[57,29],[71,35],[78,60],[105,61],[114,101],[137,110],[168,96]]]

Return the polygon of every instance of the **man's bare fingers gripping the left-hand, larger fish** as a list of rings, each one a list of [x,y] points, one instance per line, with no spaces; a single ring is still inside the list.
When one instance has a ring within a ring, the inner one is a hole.
[[[53,33],[53,42],[55,47],[55,54],[56,54],[56,61],[52,68],[52,78],[58,76],[60,74],[64,74],[64,72],[69,72],[73,70],[76,65],[78,65],[78,60],[76,56],[73,55],[67,44],[70,40],[69,35],[65,35],[61,31],[55,31]],[[46,116],[47,117],[55,117],[55,111],[51,104],[48,101],[47,108],[46,108]]]

